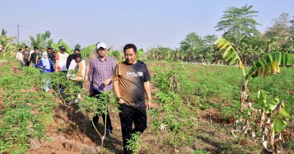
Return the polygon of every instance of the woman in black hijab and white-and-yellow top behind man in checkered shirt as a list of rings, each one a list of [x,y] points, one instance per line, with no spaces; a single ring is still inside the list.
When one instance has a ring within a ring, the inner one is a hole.
[[[70,80],[76,82],[81,88],[83,88],[83,79],[85,77],[86,72],[86,63],[82,60],[82,56],[80,53],[76,53],[74,59],[72,60],[67,76]],[[80,94],[77,94],[77,98],[74,99],[74,103],[78,103],[78,98],[80,98]]]

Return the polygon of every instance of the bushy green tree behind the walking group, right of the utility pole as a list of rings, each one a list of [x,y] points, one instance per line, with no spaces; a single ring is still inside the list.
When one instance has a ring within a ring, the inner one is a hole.
[[[49,39],[50,38],[50,31],[46,31],[44,34],[40,34],[38,33],[36,35],[36,38],[34,38],[33,36],[29,36],[29,40],[31,42],[31,46],[36,46],[37,48],[41,48],[41,47],[52,47],[53,44],[53,40]]]

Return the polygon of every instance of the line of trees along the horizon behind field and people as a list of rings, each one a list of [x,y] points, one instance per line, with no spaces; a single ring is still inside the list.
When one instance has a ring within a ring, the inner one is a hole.
[[[223,32],[225,38],[236,49],[243,64],[252,65],[261,56],[270,52],[294,52],[294,16],[289,13],[282,13],[279,17],[271,20],[271,26],[261,33],[257,26],[261,25],[255,17],[258,11],[254,11],[253,5],[245,5],[241,8],[230,6],[223,11],[220,21],[215,26],[216,31]],[[54,47],[53,40],[50,38],[50,32],[37,34],[34,38],[29,36],[29,42],[13,43],[14,37],[8,37],[6,31],[2,29],[0,36],[0,51],[5,54],[17,52],[16,50],[30,44],[31,46]],[[163,47],[160,44],[150,47],[142,58],[149,60],[182,61],[192,63],[225,63],[221,58],[221,52],[213,42],[218,39],[215,34],[200,36],[196,32],[187,34],[181,41],[179,48]],[[57,44],[62,43],[59,40]],[[28,45],[29,46],[29,45]],[[94,45],[87,48],[87,56]],[[75,44],[75,48],[81,48],[80,44]],[[14,51],[14,52],[13,52]],[[121,51],[122,52],[122,51]],[[82,52],[83,53],[83,52]],[[122,54],[121,54],[122,55]]]

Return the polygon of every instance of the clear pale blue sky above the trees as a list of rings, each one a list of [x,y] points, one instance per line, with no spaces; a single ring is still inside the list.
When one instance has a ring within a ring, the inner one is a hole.
[[[54,43],[63,39],[71,48],[98,42],[175,48],[190,32],[221,36],[215,26],[223,11],[245,4],[259,11],[262,33],[284,12],[294,19],[294,0],[0,0],[0,29],[17,36],[19,25],[20,42],[49,30]]]

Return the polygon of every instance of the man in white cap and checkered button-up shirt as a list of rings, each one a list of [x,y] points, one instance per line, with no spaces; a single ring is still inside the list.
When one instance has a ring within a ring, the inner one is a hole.
[[[96,96],[99,98],[99,95],[102,92],[110,92],[112,89],[111,78],[116,67],[116,62],[113,57],[106,55],[106,44],[99,42],[96,44],[96,50],[98,52],[98,57],[90,61],[88,82],[90,96]],[[106,134],[109,135],[113,129],[111,126],[109,112],[107,111],[107,115],[102,114],[102,117],[104,125],[106,125],[107,129]],[[99,116],[96,114],[92,120],[94,124],[96,124],[99,120]]]

